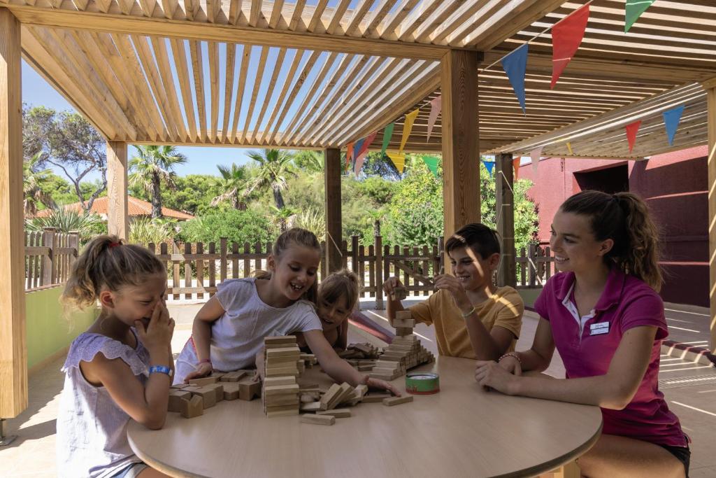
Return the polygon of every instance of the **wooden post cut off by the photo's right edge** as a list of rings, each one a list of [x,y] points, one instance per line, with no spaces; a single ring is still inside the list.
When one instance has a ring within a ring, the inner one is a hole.
[[[711,305],[710,349],[716,353],[716,78],[706,82],[708,106],[708,178],[709,178],[709,300]]]

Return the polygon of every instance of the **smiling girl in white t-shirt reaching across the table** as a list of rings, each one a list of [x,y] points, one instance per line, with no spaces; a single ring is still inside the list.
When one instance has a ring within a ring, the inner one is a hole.
[[[263,338],[301,332],[335,381],[399,394],[390,383],[356,371],[326,341],[313,306],[320,262],[316,236],[305,229],[289,229],[276,239],[267,278],[223,282],[194,319],[192,338],[177,359],[175,383],[213,370],[248,368],[261,356]]]

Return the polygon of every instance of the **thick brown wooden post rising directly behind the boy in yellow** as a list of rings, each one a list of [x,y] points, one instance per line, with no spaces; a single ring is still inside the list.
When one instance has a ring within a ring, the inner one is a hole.
[[[479,52],[450,50],[442,70],[442,204],[445,237],[480,221]],[[446,270],[450,265],[446,261]]]

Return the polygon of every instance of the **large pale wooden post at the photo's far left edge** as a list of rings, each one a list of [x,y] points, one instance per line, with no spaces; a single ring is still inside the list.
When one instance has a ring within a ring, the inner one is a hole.
[[[20,22],[0,8],[0,419],[27,407]]]

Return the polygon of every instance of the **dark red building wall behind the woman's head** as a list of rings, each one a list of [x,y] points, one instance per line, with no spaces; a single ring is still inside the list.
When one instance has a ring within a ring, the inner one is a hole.
[[[539,207],[543,242],[549,240],[552,217],[569,196],[583,188],[609,190],[623,183],[647,201],[661,230],[664,301],[708,307],[706,155],[702,146],[639,162],[547,158],[536,174],[531,164],[521,166],[519,178],[534,182],[529,194]]]

